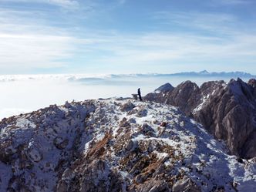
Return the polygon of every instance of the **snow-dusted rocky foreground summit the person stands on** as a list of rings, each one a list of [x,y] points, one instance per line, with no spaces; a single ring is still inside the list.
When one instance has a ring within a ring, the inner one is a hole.
[[[177,108],[130,99],[50,106],[0,123],[0,191],[253,191],[256,160],[225,153]]]

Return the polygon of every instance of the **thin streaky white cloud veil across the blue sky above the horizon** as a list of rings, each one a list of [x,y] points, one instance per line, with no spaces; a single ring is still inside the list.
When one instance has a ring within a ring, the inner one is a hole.
[[[79,4],[78,1],[70,0],[36,2],[61,7]],[[124,2],[116,0],[116,3]],[[217,2],[235,4],[240,1]],[[69,17],[55,16],[60,19]],[[145,66],[149,72],[158,69],[177,72],[187,69],[191,63],[195,70],[202,69],[203,64],[210,64],[207,66],[209,70],[216,70],[211,67],[219,66],[222,70],[244,70],[241,63],[247,62],[248,66],[253,66],[256,56],[255,25],[241,22],[236,16],[227,13],[154,12],[150,19],[157,25],[164,25],[164,29],[168,29],[167,26],[170,29],[173,26],[184,29],[177,32],[164,31],[158,26],[147,32],[125,33],[111,29],[95,31],[81,26],[83,29],[78,31],[82,31],[82,35],[76,33],[73,25],[65,26],[66,22],[55,21],[56,25],[52,25],[50,18],[47,12],[40,10],[0,9],[1,72],[24,73],[28,69],[39,68],[59,68],[65,71],[75,69],[72,66],[78,66],[76,72],[103,72],[106,69],[143,72]],[[77,62],[76,59],[80,60]],[[211,65],[214,62],[218,64]],[[159,66],[157,69],[156,65]]]

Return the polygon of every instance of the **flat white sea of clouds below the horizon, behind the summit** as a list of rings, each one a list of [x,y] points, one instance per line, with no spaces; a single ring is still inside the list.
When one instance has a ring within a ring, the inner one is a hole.
[[[157,74],[0,76],[0,120],[20,113],[29,113],[51,104],[62,105],[66,101],[130,97],[139,87],[142,95],[146,95],[164,83],[177,86],[187,79],[200,86],[209,80],[228,81],[230,77],[159,76]]]

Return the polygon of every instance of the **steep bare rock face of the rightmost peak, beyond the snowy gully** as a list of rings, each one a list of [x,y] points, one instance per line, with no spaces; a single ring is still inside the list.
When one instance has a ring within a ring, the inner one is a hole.
[[[233,79],[227,86],[217,89],[217,93],[194,113],[195,119],[203,123],[218,139],[226,140],[232,154],[255,157],[254,88],[241,79]]]

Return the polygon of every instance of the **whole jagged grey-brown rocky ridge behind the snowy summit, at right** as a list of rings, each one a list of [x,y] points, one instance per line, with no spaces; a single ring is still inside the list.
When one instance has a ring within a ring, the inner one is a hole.
[[[198,87],[190,81],[167,93],[150,93],[146,100],[167,103],[193,117],[215,138],[227,143],[231,154],[256,157],[256,80],[212,81]]]

